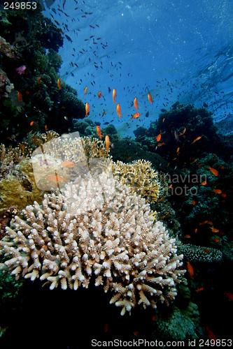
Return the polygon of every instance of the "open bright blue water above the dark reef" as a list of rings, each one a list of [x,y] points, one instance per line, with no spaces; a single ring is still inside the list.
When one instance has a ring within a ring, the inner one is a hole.
[[[134,137],[176,101],[204,105],[232,133],[232,10],[230,0],[57,0],[43,13],[63,31],[61,78],[89,103],[89,118]],[[129,122],[135,97],[140,117]]]

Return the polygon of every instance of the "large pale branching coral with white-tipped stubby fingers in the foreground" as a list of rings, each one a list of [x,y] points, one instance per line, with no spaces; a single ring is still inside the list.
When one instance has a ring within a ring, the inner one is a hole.
[[[1,252],[16,278],[58,285],[62,289],[95,285],[113,292],[110,303],[121,315],[136,304],[156,307],[176,297],[183,255],[176,255],[150,205],[130,188],[106,174],[66,184],[62,193],[44,195],[15,216],[0,242]]]

